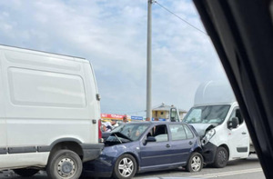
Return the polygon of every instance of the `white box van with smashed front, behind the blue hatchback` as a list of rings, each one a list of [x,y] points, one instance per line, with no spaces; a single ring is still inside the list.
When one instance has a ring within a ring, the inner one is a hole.
[[[220,168],[226,166],[227,161],[255,153],[230,85],[219,82],[200,85],[195,105],[183,122],[192,124],[200,135],[206,164]]]

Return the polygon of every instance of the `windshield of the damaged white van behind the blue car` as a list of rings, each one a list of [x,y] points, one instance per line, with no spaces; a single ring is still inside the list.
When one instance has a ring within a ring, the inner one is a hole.
[[[229,107],[228,104],[193,107],[183,122],[187,124],[221,124],[227,116]]]

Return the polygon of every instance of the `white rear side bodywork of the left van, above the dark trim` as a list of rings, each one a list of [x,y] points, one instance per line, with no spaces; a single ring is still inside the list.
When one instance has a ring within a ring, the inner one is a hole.
[[[99,104],[96,88],[90,93],[94,76],[84,71],[89,64],[72,57],[20,51],[0,51],[7,145],[48,146],[60,137],[97,144],[90,130],[97,130],[92,119],[99,115],[90,109],[94,109],[91,104]]]

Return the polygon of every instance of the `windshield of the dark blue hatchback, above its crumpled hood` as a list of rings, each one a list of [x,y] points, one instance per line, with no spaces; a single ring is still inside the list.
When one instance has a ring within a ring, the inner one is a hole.
[[[121,133],[126,135],[131,141],[137,141],[139,137],[147,130],[150,124],[122,124],[116,127],[112,133]]]

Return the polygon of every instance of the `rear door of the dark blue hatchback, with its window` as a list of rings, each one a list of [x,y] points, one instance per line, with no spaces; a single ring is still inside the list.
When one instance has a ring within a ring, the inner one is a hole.
[[[169,124],[171,147],[170,163],[186,164],[190,149],[194,144],[194,135],[184,124]]]

